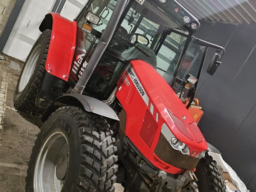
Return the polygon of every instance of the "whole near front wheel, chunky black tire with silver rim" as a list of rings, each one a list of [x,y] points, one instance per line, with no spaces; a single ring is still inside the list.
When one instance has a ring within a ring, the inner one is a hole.
[[[117,148],[102,117],[57,109],[44,123],[28,164],[26,192],[114,192]]]

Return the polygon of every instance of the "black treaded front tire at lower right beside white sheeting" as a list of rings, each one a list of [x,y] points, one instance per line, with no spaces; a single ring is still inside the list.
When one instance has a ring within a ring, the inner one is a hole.
[[[225,179],[220,167],[208,153],[196,166],[198,190],[202,192],[226,192]]]

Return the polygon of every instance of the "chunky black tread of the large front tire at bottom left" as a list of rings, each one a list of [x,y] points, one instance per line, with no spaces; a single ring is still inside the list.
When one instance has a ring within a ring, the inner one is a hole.
[[[44,125],[60,113],[69,114],[75,120],[79,132],[80,165],[76,181],[77,190],[79,192],[114,192],[115,173],[118,170],[118,165],[115,164],[117,148],[114,146],[115,138],[112,138],[113,131],[101,129],[109,126],[106,125],[107,121],[104,121],[101,116],[85,112],[82,108],[66,106],[53,112]],[[41,137],[42,131],[37,137]],[[35,154],[34,148],[32,155]],[[32,155],[31,158],[34,158]]]

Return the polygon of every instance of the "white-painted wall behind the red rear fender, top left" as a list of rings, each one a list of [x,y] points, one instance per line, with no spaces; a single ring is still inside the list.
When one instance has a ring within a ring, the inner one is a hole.
[[[52,11],[56,0],[26,0],[12,33],[4,47],[4,53],[25,61],[40,36],[39,25],[44,16]],[[87,0],[67,0],[60,14],[73,20]],[[78,7],[80,6],[80,7]]]

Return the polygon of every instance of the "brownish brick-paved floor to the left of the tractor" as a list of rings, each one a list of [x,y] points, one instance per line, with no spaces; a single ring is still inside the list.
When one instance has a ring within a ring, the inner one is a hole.
[[[0,192],[24,192],[28,161],[40,131],[29,115],[13,108],[22,63],[0,60]],[[116,184],[116,192],[123,192]]]

